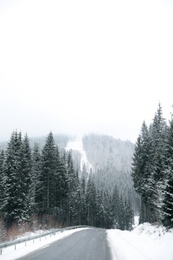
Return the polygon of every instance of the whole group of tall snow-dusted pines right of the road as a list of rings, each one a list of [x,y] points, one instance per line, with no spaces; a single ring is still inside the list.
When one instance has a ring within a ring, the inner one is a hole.
[[[133,157],[134,188],[141,197],[140,223],[173,227],[173,117],[169,123],[159,104],[149,127],[142,124]]]

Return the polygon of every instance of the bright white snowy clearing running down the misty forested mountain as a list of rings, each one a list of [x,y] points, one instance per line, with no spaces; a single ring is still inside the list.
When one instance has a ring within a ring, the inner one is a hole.
[[[87,159],[86,152],[83,149],[83,143],[82,143],[81,140],[68,142],[65,149],[67,151],[74,150],[74,151],[80,152],[80,154],[81,154],[81,162],[80,162],[80,169],[81,169],[81,171],[83,169],[84,164],[86,166],[86,169],[87,169],[88,173],[91,170],[93,171],[93,166],[91,165],[91,163]]]

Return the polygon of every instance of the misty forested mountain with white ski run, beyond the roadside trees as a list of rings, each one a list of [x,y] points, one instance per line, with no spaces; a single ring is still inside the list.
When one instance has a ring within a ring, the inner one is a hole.
[[[71,150],[79,177],[92,178],[101,191],[119,193],[131,201],[138,210],[139,198],[134,192],[131,177],[134,144],[107,135],[85,135],[82,140],[70,140],[66,150]]]

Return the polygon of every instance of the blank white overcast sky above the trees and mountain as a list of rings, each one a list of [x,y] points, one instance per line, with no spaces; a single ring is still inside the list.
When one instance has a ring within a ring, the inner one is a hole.
[[[88,132],[136,141],[173,112],[173,1],[0,0],[0,141]]]

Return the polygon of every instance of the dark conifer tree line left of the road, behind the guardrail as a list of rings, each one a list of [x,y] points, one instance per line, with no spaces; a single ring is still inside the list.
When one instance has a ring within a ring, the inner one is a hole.
[[[131,229],[131,205],[119,195],[98,190],[92,178],[79,179],[70,152],[60,150],[52,132],[42,149],[13,132],[0,151],[0,219],[5,229],[34,221],[40,225],[90,225]]]

